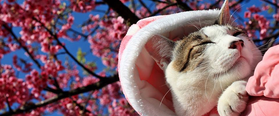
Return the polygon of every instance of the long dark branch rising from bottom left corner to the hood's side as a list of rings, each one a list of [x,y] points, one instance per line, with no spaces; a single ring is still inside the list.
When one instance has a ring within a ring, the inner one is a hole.
[[[77,89],[74,89],[74,90],[59,93],[55,97],[51,97],[47,100],[40,101],[40,102],[38,102],[34,105],[23,106],[23,107],[21,107],[19,109],[16,109],[14,111],[9,111],[9,112],[6,112],[6,113],[2,113],[2,114],[0,114],[0,116],[10,116],[10,115],[15,115],[15,114],[19,114],[19,113],[28,112],[30,110],[33,110],[33,109],[36,109],[36,108],[39,108],[39,107],[46,106],[48,104],[57,102],[58,100],[64,99],[66,97],[70,97],[70,96],[73,96],[73,95],[78,95],[80,93],[85,93],[85,92],[88,92],[88,91],[101,89],[104,86],[106,86],[108,84],[111,84],[111,83],[114,83],[114,82],[117,82],[117,81],[118,81],[118,76],[114,76],[112,78],[105,78],[104,81],[100,81],[100,82],[97,82],[95,84],[90,84],[88,86],[84,86],[84,87],[80,87],[80,88],[77,88]]]

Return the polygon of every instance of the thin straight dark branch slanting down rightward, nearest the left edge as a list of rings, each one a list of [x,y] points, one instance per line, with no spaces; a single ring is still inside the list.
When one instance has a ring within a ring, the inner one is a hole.
[[[29,52],[28,48],[25,47],[24,45],[22,45],[22,43],[20,42],[19,38],[17,38],[17,36],[15,35],[15,33],[12,31],[12,29],[10,27],[8,27],[7,24],[3,24],[2,25],[6,30],[8,30],[10,32],[10,34],[13,36],[13,39],[19,44],[20,47],[22,47],[24,49],[24,51],[26,51],[26,53],[30,56],[30,58],[33,60],[33,62],[35,62],[35,64],[37,65],[37,67],[39,67],[39,69],[41,69],[41,65],[40,63],[33,57],[33,55]]]

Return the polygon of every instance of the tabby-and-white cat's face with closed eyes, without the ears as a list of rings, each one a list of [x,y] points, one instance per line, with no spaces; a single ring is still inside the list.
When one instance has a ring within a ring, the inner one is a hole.
[[[253,42],[243,30],[230,25],[211,25],[175,42],[171,70],[208,74],[234,74],[242,79],[254,67]],[[170,69],[170,68],[169,68]]]

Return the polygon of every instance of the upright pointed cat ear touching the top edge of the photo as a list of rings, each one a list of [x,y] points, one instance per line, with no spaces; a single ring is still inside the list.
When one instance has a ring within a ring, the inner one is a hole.
[[[228,0],[225,0],[221,7],[220,13],[217,17],[215,24],[227,25],[227,24],[229,24],[229,22],[230,22],[229,2],[228,2]]]

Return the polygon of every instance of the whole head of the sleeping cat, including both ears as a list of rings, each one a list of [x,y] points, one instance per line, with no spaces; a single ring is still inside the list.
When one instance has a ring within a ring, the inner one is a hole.
[[[230,80],[229,83],[249,76],[261,57],[247,34],[232,25],[228,0],[213,25],[175,42],[154,35],[147,42],[146,49],[156,62],[163,64],[166,78],[173,75],[219,75]]]

